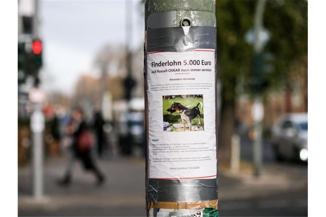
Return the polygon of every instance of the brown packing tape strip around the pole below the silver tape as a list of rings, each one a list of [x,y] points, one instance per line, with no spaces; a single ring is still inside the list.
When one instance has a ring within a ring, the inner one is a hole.
[[[196,202],[163,202],[158,201],[157,203],[152,203],[146,201],[146,210],[151,208],[160,209],[202,209],[202,208],[214,208],[217,210],[217,199],[209,201],[196,201]]]

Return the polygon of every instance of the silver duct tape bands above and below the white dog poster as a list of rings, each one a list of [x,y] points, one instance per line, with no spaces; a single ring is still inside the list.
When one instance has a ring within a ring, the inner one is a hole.
[[[216,28],[213,26],[191,26],[189,33],[184,34],[182,27],[168,27],[147,29],[145,31],[145,54],[146,52],[194,52],[195,49],[215,49],[216,51]],[[146,55],[144,67],[145,87],[145,112],[148,123],[147,104],[147,75]],[[215,69],[216,69],[215,52]],[[216,71],[215,71],[216,74]],[[216,79],[216,75],[215,75]],[[216,93],[215,93],[216,98]],[[215,114],[217,115],[217,114]],[[148,124],[147,124],[148,127]],[[216,123],[217,130],[217,123]],[[217,142],[217,132],[216,132]],[[217,144],[217,143],[216,143]],[[148,129],[146,129],[146,153],[148,153]],[[216,149],[217,150],[217,149]],[[146,156],[148,159],[148,156]],[[217,167],[217,165],[216,165]],[[217,199],[216,179],[148,179],[148,160],[146,160],[146,201],[157,202],[194,202],[211,201]]]

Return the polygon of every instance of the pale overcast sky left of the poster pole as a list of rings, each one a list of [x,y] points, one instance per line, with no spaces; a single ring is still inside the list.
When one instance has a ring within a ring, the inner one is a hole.
[[[132,14],[133,48],[142,47],[143,5],[129,1],[41,1],[44,41],[43,87],[71,94],[81,74],[96,75],[96,52],[107,43],[125,43],[126,3]]]

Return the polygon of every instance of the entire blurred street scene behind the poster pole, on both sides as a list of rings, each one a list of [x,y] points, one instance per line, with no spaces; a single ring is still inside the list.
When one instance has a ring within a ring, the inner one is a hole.
[[[308,3],[216,17],[219,215],[307,216]],[[144,1],[18,1],[19,216],[146,215],[143,43]]]

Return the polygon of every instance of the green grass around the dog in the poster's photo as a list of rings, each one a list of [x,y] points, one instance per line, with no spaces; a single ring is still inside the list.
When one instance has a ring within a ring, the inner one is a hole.
[[[199,102],[203,103],[203,98],[174,98],[174,99],[163,99],[163,121],[169,122],[172,126],[173,124],[182,122],[181,116],[179,112],[174,112],[170,114],[170,112],[167,111],[168,108],[173,104],[173,102],[180,102],[185,107],[191,109],[195,107]],[[204,104],[203,104],[204,105]],[[200,126],[204,128],[204,108],[201,109],[200,105],[198,106],[200,110]],[[192,126],[197,126],[198,124],[198,118],[195,118],[191,121]],[[205,128],[204,128],[205,129]],[[182,131],[177,129],[172,129],[171,131]]]

